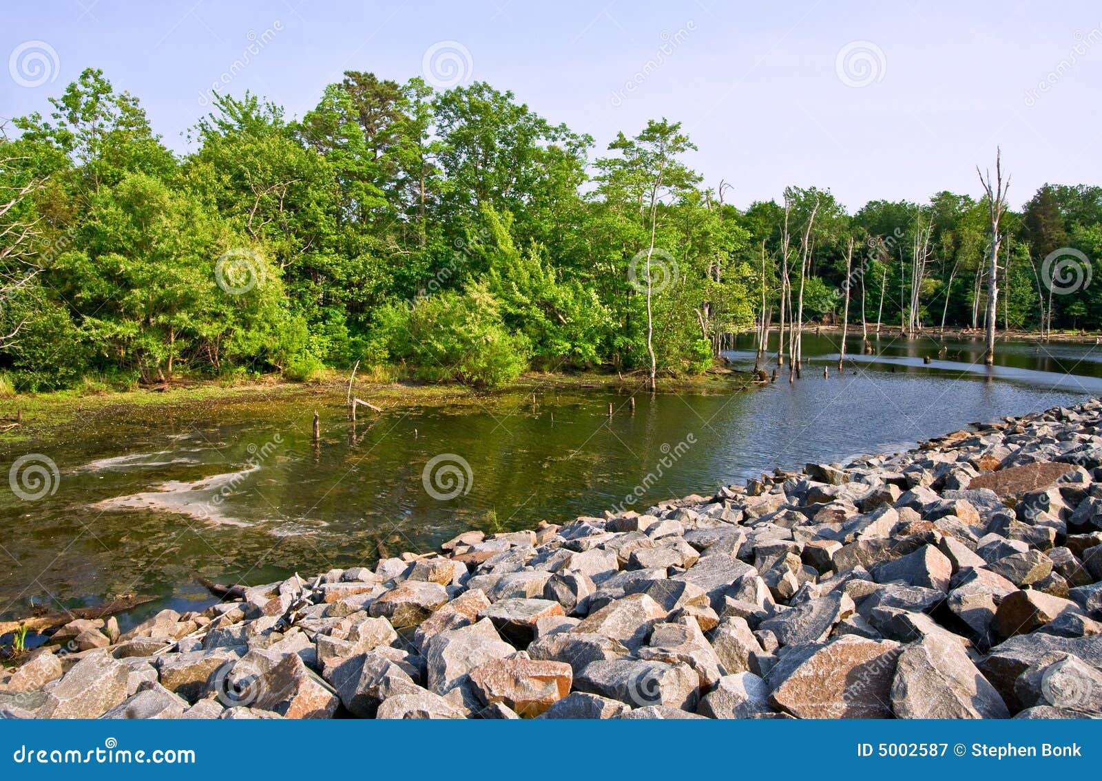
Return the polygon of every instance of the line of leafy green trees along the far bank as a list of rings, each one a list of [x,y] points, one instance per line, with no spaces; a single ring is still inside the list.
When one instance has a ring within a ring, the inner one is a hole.
[[[0,137],[0,371],[19,390],[357,361],[652,383],[755,324],[796,357],[803,323],[843,313],[907,334],[1102,325],[1093,261],[1067,254],[1102,256],[1094,186],[1046,185],[994,234],[986,194],[851,215],[792,186],[741,209],[685,164],[678,122],[598,151],[488,84],[360,72],[301,119],[216,96],[183,154],[99,70],[51,106]]]

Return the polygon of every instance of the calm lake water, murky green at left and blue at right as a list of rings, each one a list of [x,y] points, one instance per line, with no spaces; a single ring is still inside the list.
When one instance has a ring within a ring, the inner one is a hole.
[[[642,509],[776,466],[906,448],[1102,395],[1093,344],[1001,343],[997,365],[984,367],[979,339],[950,339],[940,357],[932,338],[873,341],[876,356],[852,355],[840,375],[838,335],[808,333],[793,384],[786,368],[743,392],[639,393],[634,413],[626,394],[549,389],[534,408],[517,394],[365,412],[355,435],[334,394],[86,421],[63,444],[4,451],[8,467],[41,453],[58,471],[45,473],[55,490],[42,498],[0,491],[0,616],[128,593],[194,608],[207,598],[196,575],[255,584],[370,564],[471,528]],[[753,367],[753,336],[736,346],[727,357]],[[860,349],[858,333],[847,350]]]

